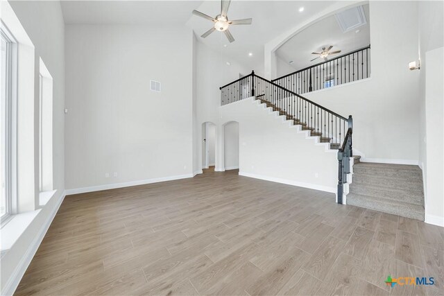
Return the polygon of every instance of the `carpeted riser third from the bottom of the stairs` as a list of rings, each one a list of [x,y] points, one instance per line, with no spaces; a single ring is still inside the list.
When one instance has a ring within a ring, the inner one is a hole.
[[[422,193],[422,182],[418,180],[390,179],[384,177],[373,177],[369,175],[359,175],[353,171],[353,183],[368,184],[371,186],[384,186],[393,189],[407,189]]]

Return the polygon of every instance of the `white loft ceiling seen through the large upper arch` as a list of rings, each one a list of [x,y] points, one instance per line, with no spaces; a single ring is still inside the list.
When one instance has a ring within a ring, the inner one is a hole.
[[[332,45],[331,51],[341,50],[342,55],[355,49],[368,46],[370,44],[370,15],[368,4],[364,5],[364,13],[366,15],[367,24],[360,26],[352,31],[343,33],[339,27],[334,15],[318,21],[301,31],[297,35],[291,37],[290,40],[282,44],[276,51],[278,58],[289,64],[295,70],[309,67],[311,64],[317,64],[322,60],[317,59],[313,62],[310,60],[316,58],[312,52],[320,53],[323,47]],[[359,33],[356,31],[359,30]],[[338,55],[331,55],[333,58]]]

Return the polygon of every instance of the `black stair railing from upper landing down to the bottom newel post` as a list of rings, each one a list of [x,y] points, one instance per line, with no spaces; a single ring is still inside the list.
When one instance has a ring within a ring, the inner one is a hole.
[[[352,156],[352,116],[345,118],[327,108],[310,101],[289,89],[266,80],[252,71],[250,75],[220,87],[221,105],[235,103],[254,96],[268,107],[287,116],[311,135],[321,137],[330,148],[339,149],[338,202],[342,203],[344,173],[350,171],[347,159]]]

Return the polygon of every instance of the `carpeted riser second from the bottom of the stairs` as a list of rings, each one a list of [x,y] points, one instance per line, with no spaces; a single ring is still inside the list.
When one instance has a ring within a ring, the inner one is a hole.
[[[350,184],[350,193],[370,195],[375,196],[376,198],[386,198],[388,200],[396,200],[398,202],[409,202],[411,204],[418,204],[420,206],[424,204],[422,201],[424,199],[424,195],[416,191],[388,191],[381,187],[362,186],[362,184],[353,182]]]

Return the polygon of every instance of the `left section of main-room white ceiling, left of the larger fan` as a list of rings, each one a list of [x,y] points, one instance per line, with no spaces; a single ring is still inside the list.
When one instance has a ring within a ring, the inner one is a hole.
[[[61,1],[65,24],[185,24],[203,1]]]

